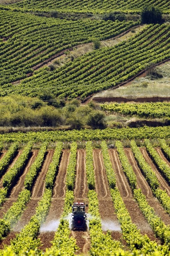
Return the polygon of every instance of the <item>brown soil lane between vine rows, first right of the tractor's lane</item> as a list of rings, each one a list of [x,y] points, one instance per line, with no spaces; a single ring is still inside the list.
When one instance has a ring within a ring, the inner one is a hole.
[[[104,168],[103,156],[100,149],[93,150],[94,173],[95,173],[95,186],[97,197],[99,200],[99,212],[101,219],[104,222],[112,222],[118,224],[118,219],[113,206],[112,198],[110,195],[110,188],[107,180],[106,171]],[[119,224],[118,224],[119,225]],[[121,240],[126,245],[119,231],[111,231],[111,236],[115,240]]]

